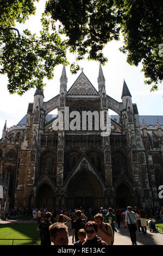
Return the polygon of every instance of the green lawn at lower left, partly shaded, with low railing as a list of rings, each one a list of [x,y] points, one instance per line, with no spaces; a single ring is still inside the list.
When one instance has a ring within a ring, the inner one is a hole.
[[[0,225],[0,239],[40,239],[39,223],[9,223]],[[34,245],[40,245],[40,240]],[[12,240],[0,240],[0,245],[12,245]],[[14,240],[14,245],[32,245],[32,240]]]

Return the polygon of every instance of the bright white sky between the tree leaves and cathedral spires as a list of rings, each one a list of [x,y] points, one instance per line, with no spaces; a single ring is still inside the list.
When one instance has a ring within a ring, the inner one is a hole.
[[[25,26],[33,33],[40,31],[39,17],[43,13],[45,1],[41,0],[36,4],[37,12],[35,16],[30,17]],[[18,28],[22,29],[21,26]],[[108,63],[102,66],[105,77],[106,94],[111,96],[118,102],[121,101],[123,81],[129,88],[132,96],[132,102],[137,104],[139,115],[163,115],[163,83],[158,86],[157,92],[150,92],[150,87],[145,85],[145,77],[141,72],[142,65],[130,66],[127,64],[127,55],[121,53],[118,48],[123,44],[123,41],[112,41],[104,48],[104,56],[108,58]],[[163,58],[163,57],[162,57]],[[68,61],[75,62],[75,57],[68,54]],[[84,74],[89,78],[93,86],[98,90],[98,71],[99,63],[95,61],[80,60],[78,62],[83,68]],[[58,65],[54,70],[53,80],[45,80],[46,87],[44,88],[44,101],[52,99],[59,94],[60,76],[62,72],[62,65]],[[70,66],[66,66],[67,74],[67,90],[72,86],[74,81],[80,75],[78,71],[76,75],[71,74]],[[9,94],[7,90],[8,78],[6,75],[0,75],[0,137],[4,127],[5,120],[7,120],[7,127],[16,125],[27,114],[28,103],[33,102],[34,93],[36,89],[30,89],[22,96],[17,94]],[[54,112],[53,112],[54,113]],[[49,113],[51,114],[51,113]],[[109,111],[109,114],[116,114]]]

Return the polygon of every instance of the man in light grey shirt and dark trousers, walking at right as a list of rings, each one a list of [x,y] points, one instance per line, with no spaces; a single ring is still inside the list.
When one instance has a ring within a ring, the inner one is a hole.
[[[126,213],[126,220],[125,220],[126,225],[128,226],[128,229],[129,229],[132,245],[137,245],[136,234],[135,234],[136,226],[137,226],[136,215],[134,211],[131,211],[132,210],[131,206],[128,206],[127,210],[128,212]]]

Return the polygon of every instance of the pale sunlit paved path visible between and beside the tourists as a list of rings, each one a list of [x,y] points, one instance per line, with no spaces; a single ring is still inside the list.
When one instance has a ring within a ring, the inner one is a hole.
[[[31,223],[31,221],[1,221],[0,224],[8,224],[8,223]],[[121,228],[117,228],[116,224],[116,229],[117,233],[115,233],[115,240],[114,240],[114,245],[131,245],[131,240],[130,240],[130,235],[128,228],[124,228],[123,223],[121,223]],[[68,226],[68,233],[69,233],[69,243],[68,245],[73,245],[72,244],[72,229],[71,229],[71,224]],[[139,234],[138,231],[136,231],[136,238],[137,238],[137,245],[163,245],[163,234],[161,233],[151,233],[147,229],[147,235],[144,236],[142,233]]]

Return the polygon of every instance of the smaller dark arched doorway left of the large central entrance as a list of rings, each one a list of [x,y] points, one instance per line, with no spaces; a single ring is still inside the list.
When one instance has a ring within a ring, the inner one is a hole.
[[[37,189],[35,208],[53,210],[54,197],[52,188],[48,184],[43,184]]]

